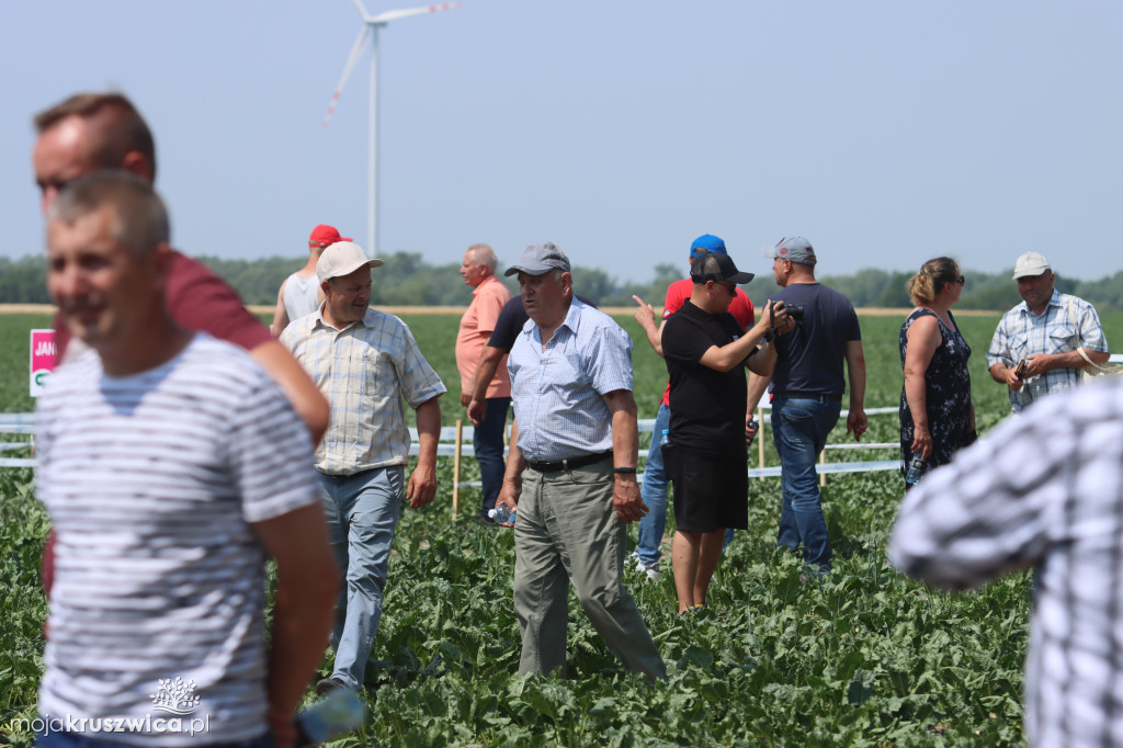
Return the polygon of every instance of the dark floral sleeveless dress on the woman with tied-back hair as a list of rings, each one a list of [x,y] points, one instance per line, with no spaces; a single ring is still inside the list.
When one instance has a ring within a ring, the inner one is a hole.
[[[917,309],[901,326],[901,370],[904,371],[905,353],[909,349],[909,328],[914,321],[931,314],[940,326],[940,347],[932,354],[932,361],[924,372],[924,399],[928,410],[928,429],[932,435],[932,456],[924,472],[951,462],[957,449],[974,440],[971,430],[971,375],[967,371],[967,359],[971,347],[959,332],[956,318],[948,312],[952,327],[944,325],[930,309]],[[901,458],[907,465],[912,458],[913,420],[901,387]]]

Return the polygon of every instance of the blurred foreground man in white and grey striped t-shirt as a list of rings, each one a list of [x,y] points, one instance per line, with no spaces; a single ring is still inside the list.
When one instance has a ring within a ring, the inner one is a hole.
[[[57,537],[39,710],[67,730],[39,745],[292,746],[338,581],[309,434],[248,354],[167,314],[167,213],[145,181],[73,181],[47,244],[52,299],[92,350],[38,404]]]

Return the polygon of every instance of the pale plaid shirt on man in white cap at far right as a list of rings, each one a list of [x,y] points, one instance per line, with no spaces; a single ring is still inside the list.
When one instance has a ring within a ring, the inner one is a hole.
[[[986,354],[987,368],[995,364],[1016,366],[1034,354],[1076,350],[1107,352],[1107,339],[1096,309],[1084,299],[1053,290],[1044,312],[1034,314],[1023,301],[1003,314]],[[1019,392],[1010,392],[1014,412],[1047,394],[1069,390],[1080,382],[1080,370],[1054,368],[1030,377]]]

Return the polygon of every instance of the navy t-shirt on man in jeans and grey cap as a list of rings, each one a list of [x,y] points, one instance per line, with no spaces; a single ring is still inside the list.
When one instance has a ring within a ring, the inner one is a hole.
[[[822,283],[795,283],[769,300],[804,307],[804,319],[795,329],[776,336],[778,357],[769,392],[841,396],[846,392],[846,344],[861,340],[850,300]]]

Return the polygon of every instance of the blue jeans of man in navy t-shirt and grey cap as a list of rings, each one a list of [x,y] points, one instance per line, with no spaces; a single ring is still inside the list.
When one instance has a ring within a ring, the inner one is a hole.
[[[842,405],[830,398],[773,399],[773,440],[783,467],[784,495],[777,545],[795,550],[803,542],[803,558],[819,571],[831,569],[831,542],[819,495],[815,460],[827,435],[839,420]]]

